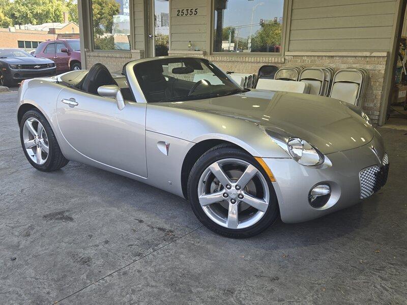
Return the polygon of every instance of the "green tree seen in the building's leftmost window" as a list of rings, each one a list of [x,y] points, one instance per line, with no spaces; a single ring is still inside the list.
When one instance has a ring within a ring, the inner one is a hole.
[[[93,31],[96,35],[111,33],[113,25],[113,15],[120,12],[120,4],[114,0],[93,0]]]

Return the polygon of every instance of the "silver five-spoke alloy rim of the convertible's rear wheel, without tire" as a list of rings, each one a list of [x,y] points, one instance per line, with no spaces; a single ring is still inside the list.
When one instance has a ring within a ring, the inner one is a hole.
[[[25,120],[22,138],[27,155],[38,165],[44,164],[49,155],[49,143],[47,133],[34,117]]]

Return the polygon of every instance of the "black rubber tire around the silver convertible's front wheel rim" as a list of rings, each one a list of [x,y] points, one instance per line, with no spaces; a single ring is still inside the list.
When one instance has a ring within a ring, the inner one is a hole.
[[[215,223],[203,211],[198,200],[198,182],[203,171],[212,163],[228,158],[240,159],[255,166],[260,173],[263,174],[269,187],[270,201],[264,216],[254,225],[244,229],[229,229]],[[267,173],[258,162],[244,150],[228,144],[220,144],[213,147],[196,161],[188,178],[188,199],[195,216],[203,225],[217,234],[230,238],[246,238],[257,235],[273,225],[279,215],[277,196]]]

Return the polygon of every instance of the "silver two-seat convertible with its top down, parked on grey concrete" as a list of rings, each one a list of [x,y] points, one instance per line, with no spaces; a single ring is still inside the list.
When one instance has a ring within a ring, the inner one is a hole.
[[[189,199],[228,237],[296,223],[379,190],[389,159],[353,105],[306,94],[249,90],[204,58],[102,64],[24,81],[17,119],[38,170],[70,160]],[[165,202],[163,203],[165,204]]]

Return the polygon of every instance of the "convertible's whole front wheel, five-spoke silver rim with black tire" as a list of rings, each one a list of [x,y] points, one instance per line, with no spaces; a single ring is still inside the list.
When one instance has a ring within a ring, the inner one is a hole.
[[[188,180],[196,217],[210,230],[232,238],[254,236],[278,217],[273,185],[245,151],[218,145],[203,154]]]

